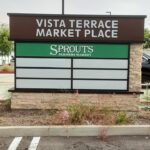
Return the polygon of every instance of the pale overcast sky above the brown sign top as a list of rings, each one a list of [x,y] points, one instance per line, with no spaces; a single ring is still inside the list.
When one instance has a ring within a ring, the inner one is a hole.
[[[150,29],[150,0],[64,0],[65,14],[146,15]],[[0,23],[9,23],[7,13],[61,14],[62,0],[0,0]]]

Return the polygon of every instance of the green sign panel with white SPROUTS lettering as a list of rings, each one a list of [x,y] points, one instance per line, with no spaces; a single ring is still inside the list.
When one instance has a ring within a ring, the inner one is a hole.
[[[16,43],[16,56],[68,58],[128,58],[128,45]]]

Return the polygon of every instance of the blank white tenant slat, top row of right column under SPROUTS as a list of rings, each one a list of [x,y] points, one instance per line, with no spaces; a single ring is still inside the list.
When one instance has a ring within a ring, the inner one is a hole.
[[[127,59],[74,59],[74,68],[128,68]]]

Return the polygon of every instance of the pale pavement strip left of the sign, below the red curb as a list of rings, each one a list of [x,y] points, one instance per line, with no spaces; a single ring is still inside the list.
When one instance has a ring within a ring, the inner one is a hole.
[[[8,90],[14,87],[14,74],[0,74],[0,100],[10,97]]]

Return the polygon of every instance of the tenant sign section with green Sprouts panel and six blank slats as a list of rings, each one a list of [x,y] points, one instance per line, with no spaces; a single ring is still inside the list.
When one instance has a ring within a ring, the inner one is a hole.
[[[127,44],[16,42],[16,89],[128,90]]]

